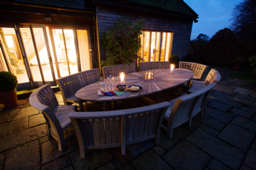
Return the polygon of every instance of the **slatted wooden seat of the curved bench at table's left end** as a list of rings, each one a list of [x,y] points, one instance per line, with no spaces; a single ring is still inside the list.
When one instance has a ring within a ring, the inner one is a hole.
[[[57,117],[58,121],[60,122],[63,130],[66,130],[67,127],[69,127],[69,124],[71,125],[69,115],[71,112],[75,111],[75,108],[76,105],[58,105],[57,107],[55,107],[55,110],[53,112]]]

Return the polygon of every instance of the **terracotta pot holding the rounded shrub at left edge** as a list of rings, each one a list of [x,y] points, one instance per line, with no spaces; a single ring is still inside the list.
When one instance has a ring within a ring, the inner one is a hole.
[[[0,92],[0,100],[3,102],[4,108],[11,108],[18,105],[16,88],[9,92]]]

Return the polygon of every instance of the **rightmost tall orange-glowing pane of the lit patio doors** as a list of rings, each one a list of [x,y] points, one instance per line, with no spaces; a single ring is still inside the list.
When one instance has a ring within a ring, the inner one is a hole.
[[[88,31],[77,30],[79,42],[79,54],[82,66],[82,71],[90,70],[90,51],[88,42]]]

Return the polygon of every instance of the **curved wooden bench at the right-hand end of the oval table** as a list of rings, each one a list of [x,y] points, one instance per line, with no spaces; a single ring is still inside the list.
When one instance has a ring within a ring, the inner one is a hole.
[[[196,80],[191,81],[191,85],[190,85],[191,88],[189,88],[189,93],[194,93],[200,90],[201,88],[205,88],[212,82],[218,83],[220,81],[220,78],[221,76],[219,72],[216,71],[215,69],[211,69],[211,71],[209,71],[209,73],[207,74],[207,78],[205,81],[196,81]]]

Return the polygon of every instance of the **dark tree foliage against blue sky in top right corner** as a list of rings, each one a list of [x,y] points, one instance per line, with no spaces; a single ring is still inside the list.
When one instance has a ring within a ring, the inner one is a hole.
[[[233,10],[232,30],[240,39],[256,41],[256,1],[243,0]]]

